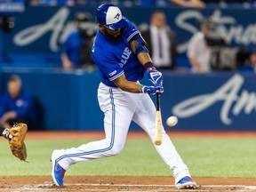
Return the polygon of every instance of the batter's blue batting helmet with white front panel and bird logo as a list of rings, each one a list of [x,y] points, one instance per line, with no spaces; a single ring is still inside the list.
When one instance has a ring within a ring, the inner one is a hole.
[[[112,30],[124,28],[126,25],[122,12],[114,4],[101,4],[95,12],[95,17],[97,23]]]

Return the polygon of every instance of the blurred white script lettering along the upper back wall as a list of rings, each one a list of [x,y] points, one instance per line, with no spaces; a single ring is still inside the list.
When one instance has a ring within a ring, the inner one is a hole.
[[[18,32],[13,38],[14,44],[26,46],[36,42],[37,39],[47,33],[51,33],[49,47],[52,52],[59,52],[58,43],[63,44],[70,30],[74,28],[71,21],[67,22],[68,15],[68,7],[60,8],[58,12],[52,15],[52,18],[44,23],[24,28]],[[190,20],[197,20],[203,16],[201,12],[196,10],[185,10],[176,16],[175,24],[181,30],[191,33],[192,36],[198,29],[197,26],[191,24]],[[221,10],[218,9],[214,10],[209,17],[212,17],[218,23],[218,29],[228,43],[234,41],[236,44],[241,45],[256,44],[256,23],[249,23],[247,26],[243,26],[236,22],[235,17],[223,15]],[[65,25],[66,22],[67,24]],[[97,25],[94,25],[94,28],[97,28]],[[178,52],[187,51],[188,40],[178,45]]]

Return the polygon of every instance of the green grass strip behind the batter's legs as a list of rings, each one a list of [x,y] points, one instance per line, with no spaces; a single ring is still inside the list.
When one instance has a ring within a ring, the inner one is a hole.
[[[1,176],[50,176],[50,156],[56,148],[73,148],[91,140],[28,140],[29,163],[12,156],[1,140]],[[172,140],[193,177],[256,177],[256,140],[253,138]],[[81,162],[69,167],[67,175],[172,176],[169,167],[149,140],[127,140],[118,156]]]

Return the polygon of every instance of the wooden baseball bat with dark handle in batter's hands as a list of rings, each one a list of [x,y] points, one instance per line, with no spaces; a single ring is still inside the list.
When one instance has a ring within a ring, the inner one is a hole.
[[[156,92],[156,130],[155,130],[155,144],[162,144],[162,117],[160,110],[160,94]]]

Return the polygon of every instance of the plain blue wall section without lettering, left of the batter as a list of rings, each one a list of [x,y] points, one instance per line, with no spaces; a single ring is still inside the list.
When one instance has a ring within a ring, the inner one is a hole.
[[[47,130],[102,130],[103,114],[97,100],[98,73],[44,68],[4,68],[3,89],[11,74],[36,99],[40,128]]]

